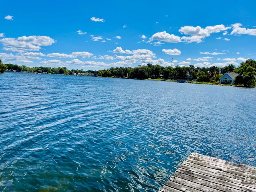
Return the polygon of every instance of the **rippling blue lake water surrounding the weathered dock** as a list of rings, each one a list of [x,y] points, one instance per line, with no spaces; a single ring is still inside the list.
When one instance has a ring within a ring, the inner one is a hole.
[[[0,191],[157,191],[191,152],[256,166],[256,89],[0,74]]]

